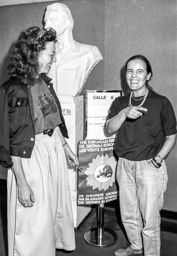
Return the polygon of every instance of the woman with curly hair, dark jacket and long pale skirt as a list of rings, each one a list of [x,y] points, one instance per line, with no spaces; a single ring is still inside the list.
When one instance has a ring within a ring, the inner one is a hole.
[[[56,32],[28,28],[9,51],[0,87],[0,163],[8,168],[8,255],[54,256],[75,248],[67,161],[78,164],[59,100],[45,74]]]

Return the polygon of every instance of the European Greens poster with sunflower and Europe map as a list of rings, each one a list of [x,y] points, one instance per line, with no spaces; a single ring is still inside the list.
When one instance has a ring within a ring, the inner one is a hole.
[[[107,203],[117,199],[115,158],[116,138],[81,140],[78,144],[78,205]]]

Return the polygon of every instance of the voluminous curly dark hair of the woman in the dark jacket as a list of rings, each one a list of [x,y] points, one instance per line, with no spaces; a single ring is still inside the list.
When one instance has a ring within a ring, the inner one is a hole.
[[[45,31],[39,27],[30,27],[21,32],[8,53],[8,75],[16,77],[19,83],[33,85],[39,77],[38,56],[46,49],[47,43],[55,40],[56,32],[53,29]]]

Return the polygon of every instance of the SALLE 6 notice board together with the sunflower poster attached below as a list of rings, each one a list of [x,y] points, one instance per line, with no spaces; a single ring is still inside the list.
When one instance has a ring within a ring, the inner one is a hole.
[[[86,90],[85,138],[79,141],[78,205],[104,204],[117,199],[115,143],[106,121],[109,108],[122,91]]]

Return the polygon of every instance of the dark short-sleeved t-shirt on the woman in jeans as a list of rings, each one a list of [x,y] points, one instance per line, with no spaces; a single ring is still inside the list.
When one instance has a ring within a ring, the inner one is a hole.
[[[129,98],[130,94],[116,98],[110,107],[108,119],[127,108]],[[141,102],[132,99],[133,106]],[[177,133],[175,113],[166,97],[149,90],[142,107],[147,108],[148,112],[138,119],[127,118],[118,130],[116,153],[119,157],[132,161],[153,158],[163,147],[166,136]]]

